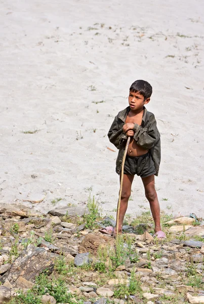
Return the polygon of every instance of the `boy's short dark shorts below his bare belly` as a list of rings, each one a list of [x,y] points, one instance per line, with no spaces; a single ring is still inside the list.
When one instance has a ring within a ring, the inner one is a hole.
[[[147,177],[156,173],[150,152],[141,156],[126,156],[124,174]]]

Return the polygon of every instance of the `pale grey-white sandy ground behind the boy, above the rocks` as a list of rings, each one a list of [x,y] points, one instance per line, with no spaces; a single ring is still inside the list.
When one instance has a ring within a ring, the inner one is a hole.
[[[161,134],[161,209],[204,217],[203,10],[201,0],[1,1],[1,204],[45,212],[91,193],[115,216],[107,132],[144,79]],[[148,208],[139,177],[131,199],[127,213]]]

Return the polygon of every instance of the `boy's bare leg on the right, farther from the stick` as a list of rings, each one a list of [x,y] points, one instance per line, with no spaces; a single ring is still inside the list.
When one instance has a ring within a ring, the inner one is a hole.
[[[160,207],[155,190],[154,175],[150,175],[142,178],[142,182],[144,184],[145,196],[149,201],[151,213],[154,219],[154,224],[155,224],[154,231],[155,232],[161,231]]]

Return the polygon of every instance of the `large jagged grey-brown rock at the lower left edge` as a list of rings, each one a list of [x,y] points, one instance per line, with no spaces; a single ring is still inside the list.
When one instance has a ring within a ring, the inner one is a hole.
[[[1,282],[9,280],[12,286],[18,287],[18,278],[23,276],[27,281],[33,282],[35,277],[44,270],[52,272],[54,263],[49,253],[44,248],[37,248],[28,245],[27,248],[17,257],[9,271],[2,276]]]

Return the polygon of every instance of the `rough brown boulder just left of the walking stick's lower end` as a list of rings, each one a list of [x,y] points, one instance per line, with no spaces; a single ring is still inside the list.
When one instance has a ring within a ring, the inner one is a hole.
[[[97,254],[99,247],[112,247],[114,243],[115,239],[102,235],[100,232],[90,233],[89,235],[85,236],[84,240],[80,243],[78,251],[79,253],[90,252]]]

